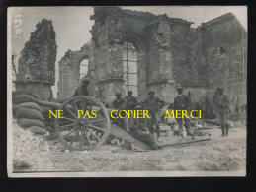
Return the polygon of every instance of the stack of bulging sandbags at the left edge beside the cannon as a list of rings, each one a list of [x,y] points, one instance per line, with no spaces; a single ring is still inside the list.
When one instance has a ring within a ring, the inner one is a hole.
[[[22,128],[34,134],[47,133],[44,129],[44,118],[36,96],[22,92],[13,94],[13,115]]]

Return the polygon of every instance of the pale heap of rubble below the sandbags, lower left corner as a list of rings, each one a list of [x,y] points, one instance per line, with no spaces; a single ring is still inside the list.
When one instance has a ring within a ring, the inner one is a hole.
[[[34,135],[21,128],[13,119],[13,162],[14,170],[37,166],[40,155],[46,155],[50,145],[42,136]]]

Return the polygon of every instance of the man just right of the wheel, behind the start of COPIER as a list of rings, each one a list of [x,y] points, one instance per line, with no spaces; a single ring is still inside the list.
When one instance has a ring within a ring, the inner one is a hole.
[[[122,98],[122,94],[120,92],[116,92],[116,99],[112,102],[112,107],[117,110],[125,110],[127,102],[124,98]],[[125,116],[122,114],[122,116]],[[120,124],[124,129],[128,131],[128,120],[117,118],[115,119],[117,124]]]

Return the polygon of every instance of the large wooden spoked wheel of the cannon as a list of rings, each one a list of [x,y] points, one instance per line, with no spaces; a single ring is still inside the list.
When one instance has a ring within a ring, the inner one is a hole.
[[[63,110],[63,118],[55,119],[55,132],[67,149],[96,150],[107,139],[110,132],[109,113],[96,98],[73,96],[64,101],[58,110]]]

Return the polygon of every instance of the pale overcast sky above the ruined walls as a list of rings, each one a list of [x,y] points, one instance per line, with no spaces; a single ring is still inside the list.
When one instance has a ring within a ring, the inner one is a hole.
[[[191,27],[196,28],[201,23],[208,22],[226,13],[233,13],[244,29],[247,31],[247,7],[246,6],[126,6],[129,10],[151,12],[155,15],[167,14],[170,18],[180,18],[194,22]],[[16,55],[15,64],[18,64],[20,52],[25,42],[30,38],[31,32],[36,30],[36,25],[42,19],[52,21],[56,32],[56,81],[52,86],[53,96],[56,97],[58,81],[58,61],[68,49],[80,50],[91,39],[93,7],[13,7],[8,8],[8,17],[11,17],[11,49]],[[15,18],[21,19],[18,23]],[[17,29],[21,31],[18,33]],[[17,68],[18,69],[18,68]],[[18,72],[19,73],[19,72]]]

